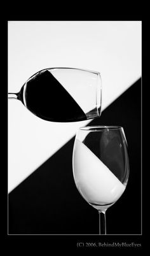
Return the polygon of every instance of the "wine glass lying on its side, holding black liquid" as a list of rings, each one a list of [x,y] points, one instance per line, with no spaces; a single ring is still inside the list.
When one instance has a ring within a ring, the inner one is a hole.
[[[100,73],[78,68],[47,68],[34,74],[20,92],[8,93],[34,115],[51,122],[77,122],[100,117]]]

